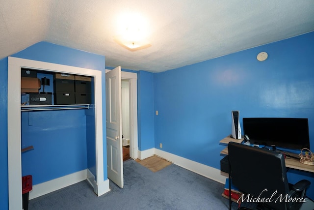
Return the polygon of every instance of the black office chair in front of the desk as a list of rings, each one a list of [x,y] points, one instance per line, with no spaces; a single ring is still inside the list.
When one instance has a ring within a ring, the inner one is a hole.
[[[255,201],[261,209],[300,209],[303,204],[300,199],[304,201],[306,188],[311,182],[301,180],[289,185],[285,158],[281,152],[230,142],[228,153],[229,180],[244,193],[242,198],[246,202]],[[289,199],[290,202],[286,202]]]

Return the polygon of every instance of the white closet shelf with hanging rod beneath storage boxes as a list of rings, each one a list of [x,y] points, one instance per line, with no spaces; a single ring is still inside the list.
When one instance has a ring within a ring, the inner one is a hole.
[[[22,112],[27,111],[52,111],[66,109],[89,109],[89,104],[70,104],[70,105],[26,105],[21,106]]]

